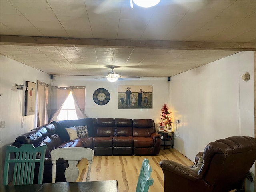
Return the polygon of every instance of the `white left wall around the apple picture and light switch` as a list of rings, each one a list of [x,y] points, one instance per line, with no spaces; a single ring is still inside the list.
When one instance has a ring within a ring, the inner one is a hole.
[[[0,120],[5,121],[5,128],[0,129],[0,170],[1,184],[6,146],[16,137],[35,127],[35,115],[24,116],[25,91],[16,90],[15,83],[25,81],[50,83],[49,75],[26,66],[20,62],[0,55]]]

